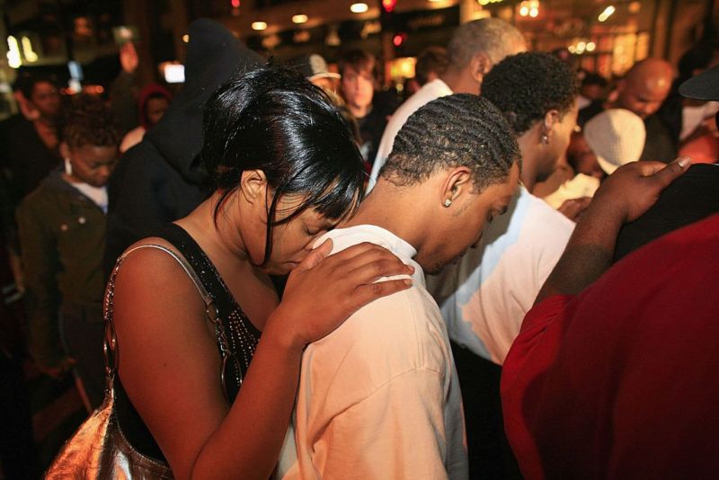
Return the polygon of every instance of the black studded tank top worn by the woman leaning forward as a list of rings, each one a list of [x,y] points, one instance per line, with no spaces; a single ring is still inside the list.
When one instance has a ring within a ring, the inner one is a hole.
[[[208,256],[200,249],[194,239],[175,224],[164,226],[158,235],[160,238],[173,244],[175,250],[182,253],[200,277],[202,285],[207,289],[209,296],[214,299],[219,318],[224,326],[229,344],[229,350],[233,352],[239,363],[241,376],[226,374],[226,395],[230,403],[235,401],[239,392],[242,378],[247,373],[250,361],[253,358],[257,342],[260,341],[260,331],[250,322],[242,308],[237,304],[235,298],[222,278],[219,276],[215,265],[210,262]],[[121,351],[122,346],[118,344]],[[219,355],[219,343],[217,343],[217,354]],[[227,371],[227,370],[226,370]],[[217,383],[220,382],[220,372],[217,372]],[[122,387],[120,376],[115,376],[115,413],[117,415],[120,429],[125,438],[143,455],[166,463],[164,455],[157,442],[147,429],[145,422],[140,418],[138,411],[130,402],[129,397]],[[172,398],[168,398],[172,402]]]

